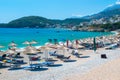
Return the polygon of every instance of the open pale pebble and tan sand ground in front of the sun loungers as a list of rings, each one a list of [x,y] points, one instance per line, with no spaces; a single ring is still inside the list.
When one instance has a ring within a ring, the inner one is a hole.
[[[93,50],[82,50],[81,58],[72,56],[76,62],[57,61],[56,64],[62,66],[45,67],[47,70],[38,71],[0,69],[0,78],[1,80],[112,80],[113,78],[119,80],[119,52],[120,49],[100,49],[97,53]],[[101,59],[101,54],[106,54],[107,59]]]

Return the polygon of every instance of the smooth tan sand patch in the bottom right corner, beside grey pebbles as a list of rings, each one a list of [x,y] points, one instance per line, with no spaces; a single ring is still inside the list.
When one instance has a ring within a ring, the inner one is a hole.
[[[120,80],[120,58],[111,60],[103,65],[94,67],[89,72],[73,74],[64,80]]]

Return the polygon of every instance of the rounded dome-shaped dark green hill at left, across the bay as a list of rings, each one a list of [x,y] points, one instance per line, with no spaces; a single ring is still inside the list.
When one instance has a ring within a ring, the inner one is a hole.
[[[8,27],[45,27],[46,24],[52,24],[50,20],[39,16],[28,16],[13,20],[7,24]]]

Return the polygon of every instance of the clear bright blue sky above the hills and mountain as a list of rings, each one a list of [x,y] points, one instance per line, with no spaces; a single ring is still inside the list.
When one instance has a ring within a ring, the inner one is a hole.
[[[91,15],[117,0],[0,0],[0,23],[24,16],[65,19]]]

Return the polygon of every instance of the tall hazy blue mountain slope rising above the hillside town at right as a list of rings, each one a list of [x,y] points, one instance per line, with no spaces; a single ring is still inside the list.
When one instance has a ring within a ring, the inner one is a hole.
[[[100,18],[110,18],[115,15],[120,15],[120,2],[116,2],[115,4],[108,6],[103,11],[93,14],[90,16],[84,16],[84,19],[100,19]]]

